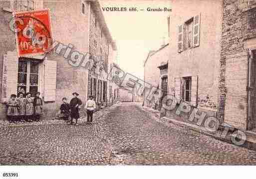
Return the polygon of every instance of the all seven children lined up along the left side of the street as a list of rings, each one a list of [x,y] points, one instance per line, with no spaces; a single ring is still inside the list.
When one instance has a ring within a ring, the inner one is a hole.
[[[62,98],[62,104],[60,105],[59,117],[68,121],[71,118],[71,124],[75,119],[75,125],[80,118],[79,109],[82,105],[82,101],[78,98],[79,94],[72,93],[73,98],[70,103],[67,103],[67,98]],[[36,96],[31,98],[31,93],[26,93],[26,97],[23,97],[23,93],[19,93],[18,97],[15,94],[10,95],[10,99],[6,102],[7,105],[7,119],[9,122],[16,123],[17,121],[39,121],[42,114],[42,99],[39,97],[40,93],[36,92]],[[89,100],[84,106],[85,113],[87,114],[87,123],[92,123],[93,111],[96,109],[96,103],[93,100],[93,96],[89,96]]]

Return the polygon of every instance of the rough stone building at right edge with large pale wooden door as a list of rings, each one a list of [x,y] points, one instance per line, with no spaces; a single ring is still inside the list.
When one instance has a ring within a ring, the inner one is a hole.
[[[224,122],[256,128],[256,1],[223,0],[220,108]]]

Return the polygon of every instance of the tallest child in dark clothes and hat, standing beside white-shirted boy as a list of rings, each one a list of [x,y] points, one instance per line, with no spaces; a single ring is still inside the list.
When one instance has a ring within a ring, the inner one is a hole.
[[[82,101],[77,97],[79,96],[78,93],[74,92],[72,93],[74,96],[69,103],[69,107],[71,110],[70,117],[71,117],[71,125],[73,124],[73,119],[75,119],[75,125],[77,125],[77,119],[80,117],[79,116],[79,109],[80,106],[83,104]]]

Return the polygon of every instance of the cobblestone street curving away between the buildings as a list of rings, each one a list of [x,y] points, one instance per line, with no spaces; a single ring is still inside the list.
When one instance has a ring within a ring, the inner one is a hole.
[[[175,125],[135,103],[95,113],[96,123],[1,125],[1,165],[256,165],[256,152]]]

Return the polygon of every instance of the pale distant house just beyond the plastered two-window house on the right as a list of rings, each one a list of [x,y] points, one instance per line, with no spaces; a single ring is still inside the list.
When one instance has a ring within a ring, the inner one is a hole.
[[[169,50],[169,44],[163,44],[158,50],[150,51],[144,63],[144,81],[166,93]],[[153,104],[152,101],[146,99],[146,96],[143,96],[143,98],[145,106],[161,109],[161,105],[159,105],[161,101],[158,104]]]

